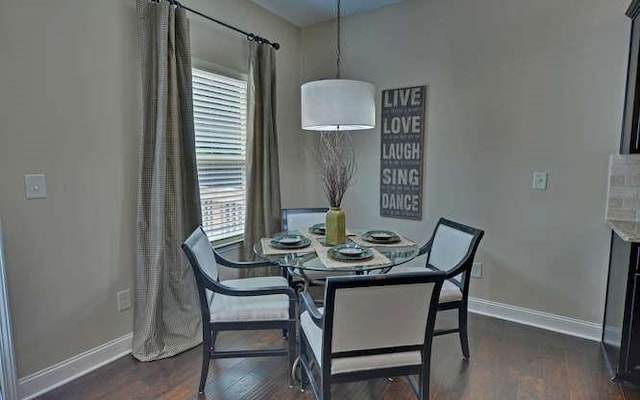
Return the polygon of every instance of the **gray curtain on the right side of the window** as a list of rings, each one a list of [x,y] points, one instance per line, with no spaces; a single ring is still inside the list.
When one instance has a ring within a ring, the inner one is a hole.
[[[247,193],[244,224],[245,259],[261,237],[280,230],[280,170],[276,129],[276,59],[268,44],[249,42],[247,82]],[[251,269],[243,277],[276,274]]]

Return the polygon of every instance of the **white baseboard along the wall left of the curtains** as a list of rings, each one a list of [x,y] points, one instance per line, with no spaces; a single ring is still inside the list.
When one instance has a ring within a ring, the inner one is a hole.
[[[20,399],[29,400],[131,353],[133,333],[87,350],[18,380]]]

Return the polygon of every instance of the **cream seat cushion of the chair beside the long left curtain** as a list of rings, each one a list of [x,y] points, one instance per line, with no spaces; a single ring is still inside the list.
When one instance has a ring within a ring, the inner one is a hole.
[[[234,289],[288,287],[281,276],[230,279],[221,282]],[[266,321],[289,319],[289,296],[226,296],[216,293],[210,303],[211,322]]]

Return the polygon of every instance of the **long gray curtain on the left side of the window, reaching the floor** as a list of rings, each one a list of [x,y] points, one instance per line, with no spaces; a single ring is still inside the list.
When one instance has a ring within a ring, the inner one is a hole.
[[[170,357],[202,340],[193,272],[180,244],[201,223],[189,25],[167,1],[137,1],[142,67],[133,355]]]

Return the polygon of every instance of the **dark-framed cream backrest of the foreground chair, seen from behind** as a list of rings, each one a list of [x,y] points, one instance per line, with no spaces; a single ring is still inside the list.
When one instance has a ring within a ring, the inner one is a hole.
[[[425,271],[328,278],[323,365],[341,356],[429,350],[444,277]]]

